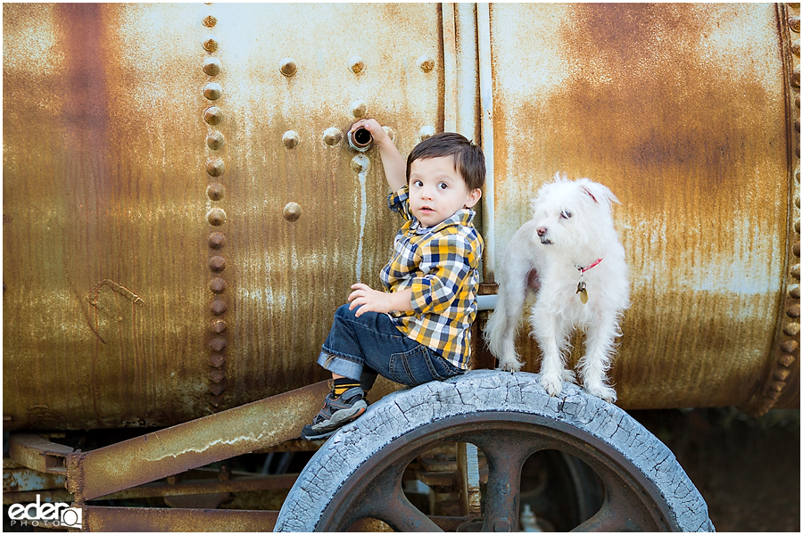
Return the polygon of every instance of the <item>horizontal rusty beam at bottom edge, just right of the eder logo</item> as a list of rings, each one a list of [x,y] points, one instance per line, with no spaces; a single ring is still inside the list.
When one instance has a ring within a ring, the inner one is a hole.
[[[83,531],[273,531],[277,511],[83,506]]]

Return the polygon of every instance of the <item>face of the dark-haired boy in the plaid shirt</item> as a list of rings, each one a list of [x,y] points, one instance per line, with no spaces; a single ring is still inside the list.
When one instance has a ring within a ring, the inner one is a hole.
[[[479,189],[469,191],[452,156],[410,164],[410,211],[423,226],[435,226],[457,210],[473,207],[481,196]]]

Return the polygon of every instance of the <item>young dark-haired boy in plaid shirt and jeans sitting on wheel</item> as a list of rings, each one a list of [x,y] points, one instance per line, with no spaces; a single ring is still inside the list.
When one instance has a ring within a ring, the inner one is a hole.
[[[413,148],[405,167],[376,120],[360,120],[352,132],[360,127],[379,148],[393,190],[388,205],[405,223],[381,273],[385,292],[353,284],[349,304],[335,312],[318,358],[334,390],[304,426],[306,440],[327,438],[365,412],[377,373],[416,386],[468,369],[484,246],[470,209],[482,196],[483,152],[459,134],[436,134]]]

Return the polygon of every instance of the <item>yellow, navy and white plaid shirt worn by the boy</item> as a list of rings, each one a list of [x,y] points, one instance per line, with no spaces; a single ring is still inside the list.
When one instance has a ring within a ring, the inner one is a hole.
[[[436,226],[421,226],[410,213],[405,185],[387,198],[405,219],[393,242],[393,258],[382,270],[388,292],[412,289],[413,312],[388,316],[411,339],[435,350],[453,366],[468,369],[471,324],[476,317],[477,267],[483,238],[471,223],[475,212],[458,210]]]

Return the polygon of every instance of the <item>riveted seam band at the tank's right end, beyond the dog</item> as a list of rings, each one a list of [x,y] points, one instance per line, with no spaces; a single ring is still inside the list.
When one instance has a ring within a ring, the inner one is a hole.
[[[780,4],[776,7],[777,16],[781,21],[781,46],[785,56],[784,65],[790,71],[784,72],[786,93],[789,95],[787,111],[791,117],[799,118],[800,105],[800,49],[799,36],[795,42],[793,34],[799,34],[799,4]],[[798,78],[796,79],[795,76]],[[781,296],[780,328],[775,336],[774,359],[769,374],[761,387],[758,399],[749,407],[751,416],[761,416],[774,407],[783,391],[789,386],[791,366],[799,360],[799,332],[800,332],[800,141],[799,119],[791,127],[787,124],[791,150],[791,177],[788,177],[791,191],[786,200],[791,204],[789,209],[790,221],[787,239],[787,271],[783,281]],[[797,130],[797,131],[796,131]]]

